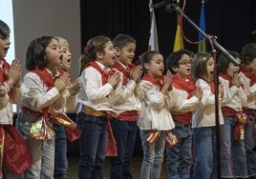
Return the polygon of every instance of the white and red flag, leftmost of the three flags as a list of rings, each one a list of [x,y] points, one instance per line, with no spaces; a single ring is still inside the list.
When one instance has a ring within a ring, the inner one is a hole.
[[[159,51],[159,39],[158,39],[158,30],[157,23],[155,18],[155,12],[151,5],[149,5],[151,26],[150,26],[150,37],[148,42],[148,51],[157,50]]]

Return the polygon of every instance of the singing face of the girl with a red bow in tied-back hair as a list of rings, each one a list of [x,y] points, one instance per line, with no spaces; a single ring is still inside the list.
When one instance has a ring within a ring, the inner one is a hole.
[[[104,49],[105,53],[102,54],[101,59],[99,61],[105,66],[105,67],[111,67],[113,66],[115,62],[115,56],[117,51],[114,49],[112,42],[107,42]]]

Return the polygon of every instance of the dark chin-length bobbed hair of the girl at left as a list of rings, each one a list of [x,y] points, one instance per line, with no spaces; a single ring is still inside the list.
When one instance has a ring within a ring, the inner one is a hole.
[[[55,39],[53,36],[41,36],[30,43],[26,53],[26,69],[44,68],[49,63],[46,48]]]

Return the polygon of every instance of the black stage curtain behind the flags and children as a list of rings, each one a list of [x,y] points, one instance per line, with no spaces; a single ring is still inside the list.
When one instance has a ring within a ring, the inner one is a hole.
[[[206,33],[217,36],[226,50],[240,51],[245,43],[255,41],[251,31],[256,30],[255,0],[204,0]],[[161,0],[153,0],[154,4]],[[181,0],[181,5],[182,5]],[[114,38],[127,33],[137,40],[137,57],[147,50],[150,30],[148,0],[81,0],[81,43],[98,34]],[[184,13],[199,24],[201,0],[187,0]],[[165,7],[155,10],[159,34],[159,47],[163,56],[173,50],[177,27],[175,10]],[[198,39],[198,31],[183,20],[185,35],[192,41]],[[185,49],[197,51],[197,45],[184,42]],[[136,57],[136,58],[137,58]]]

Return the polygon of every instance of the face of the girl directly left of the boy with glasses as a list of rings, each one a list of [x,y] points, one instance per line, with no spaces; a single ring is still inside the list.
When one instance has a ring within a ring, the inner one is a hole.
[[[147,70],[147,73],[151,76],[158,78],[162,75],[162,72],[164,70],[164,63],[163,63],[163,57],[160,54],[155,54],[152,57],[152,60],[150,63],[145,63],[144,65],[145,69]]]

